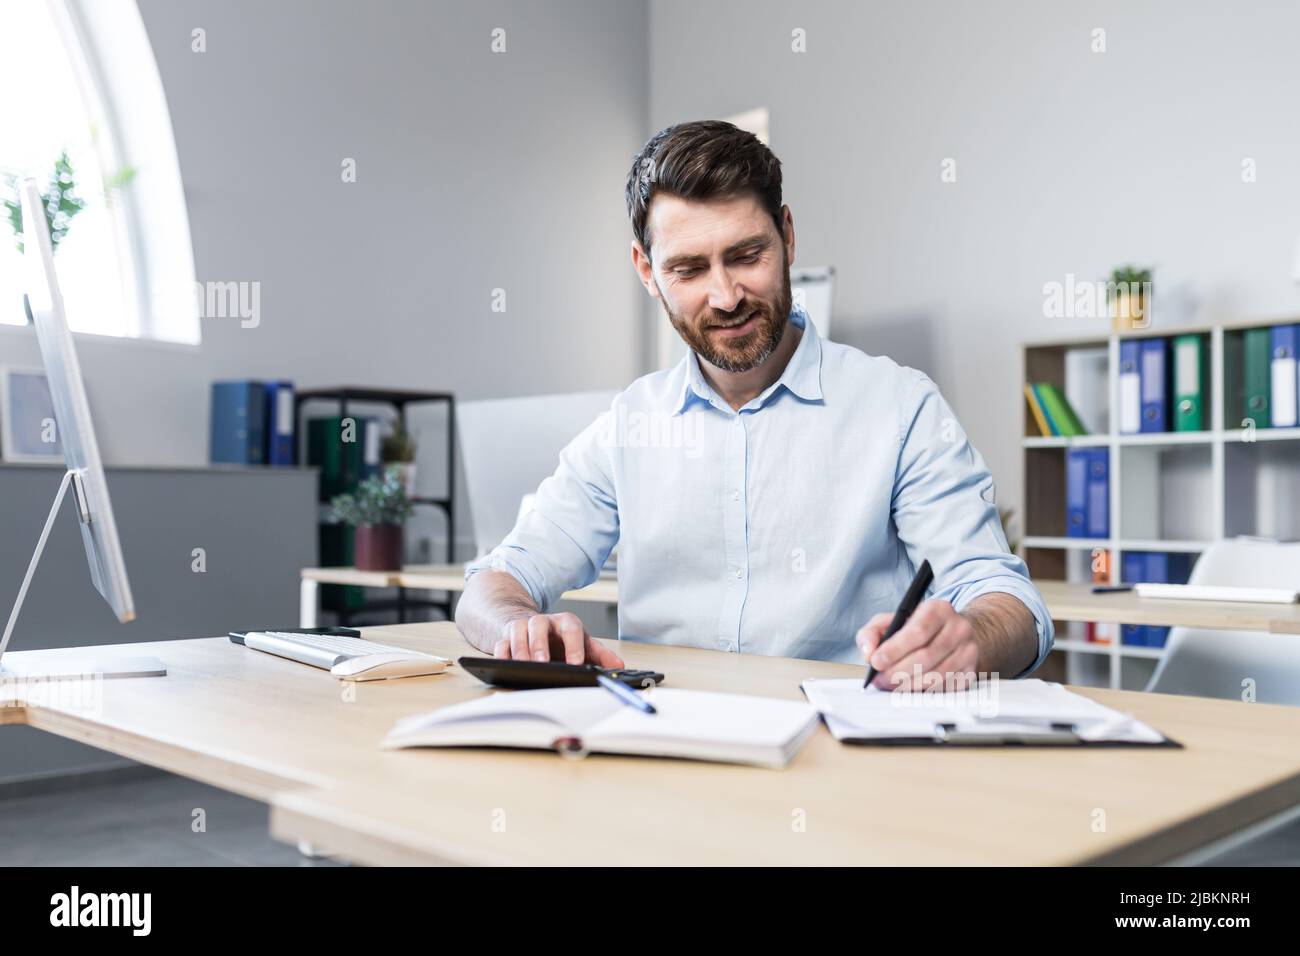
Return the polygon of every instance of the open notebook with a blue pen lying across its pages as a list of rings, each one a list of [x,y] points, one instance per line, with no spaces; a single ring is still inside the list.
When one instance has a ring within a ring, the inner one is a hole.
[[[783,767],[816,730],[802,701],[655,688],[644,714],[599,687],[499,691],[403,718],[384,747],[526,747]]]

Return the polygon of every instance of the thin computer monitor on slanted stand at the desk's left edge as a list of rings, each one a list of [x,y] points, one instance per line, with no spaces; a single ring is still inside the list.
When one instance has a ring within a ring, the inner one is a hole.
[[[64,315],[64,300],[58,291],[55,274],[55,256],[49,242],[49,228],[46,222],[44,202],[34,179],[25,178],[18,186],[22,206],[23,225],[23,302],[27,317],[36,328],[40,343],[40,356],[49,381],[49,395],[55,408],[55,428],[62,446],[68,471],[55,497],[53,507],[46,519],[44,531],[36,544],[36,551],[27,567],[27,575],[18,589],[18,598],[4,637],[0,639],[0,656],[9,646],[13,626],[27,594],[27,585],[40,561],[40,553],[49,537],[55,516],[58,512],[68,488],[72,486],[77,502],[77,518],[81,524],[82,542],[86,545],[86,562],[90,578],[96,591],[103,594],[108,606],[120,622],[135,618],[135,605],[131,598],[131,585],[126,578],[126,562],[122,558],[122,545],[117,537],[117,523],[113,520],[113,506],[108,497],[108,483],[104,479],[104,463],[99,457],[99,444],[95,440],[95,427],[91,421],[90,402],[86,399],[86,386],[82,382],[81,364],[68,320]],[[143,666],[142,666],[143,663]],[[160,667],[152,666],[155,658],[133,661],[126,666],[108,665],[94,658],[70,662],[60,658],[53,671],[42,669],[40,676],[72,676],[105,674],[113,676],[159,674]],[[0,670],[12,670],[12,658]],[[30,669],[23,669],[25,676],[32,676]]]

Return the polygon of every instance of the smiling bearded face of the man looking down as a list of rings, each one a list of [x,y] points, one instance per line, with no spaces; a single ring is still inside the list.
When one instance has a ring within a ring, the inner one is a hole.
[[[790,313],[794,229],[785,235],[754,196],[650,203],[650,258],[633,243],[641,281],[702,359],[748,372],[776,350]]]

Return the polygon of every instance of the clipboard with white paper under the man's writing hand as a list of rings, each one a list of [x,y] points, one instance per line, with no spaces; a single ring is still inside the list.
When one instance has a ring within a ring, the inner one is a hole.
[[[861,680],[801,687],[835,739],[852,744],[1179,745],[1046,680],[985,682],[950,693],[863,691]]]

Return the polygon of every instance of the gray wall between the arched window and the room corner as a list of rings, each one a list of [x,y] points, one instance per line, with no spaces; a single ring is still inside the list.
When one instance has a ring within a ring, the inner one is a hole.
[[[204,320],[198,349],[82,337],[105,460],[203,463],[218,377],[484,398],[641,371],[621,196],[646,126],[644,3],[139,5],[198,277],[260,281],[263,317]],[[0,360],[39,363],[30,333],[0,336]],[[442,437],[420,437],[432,475]]]

